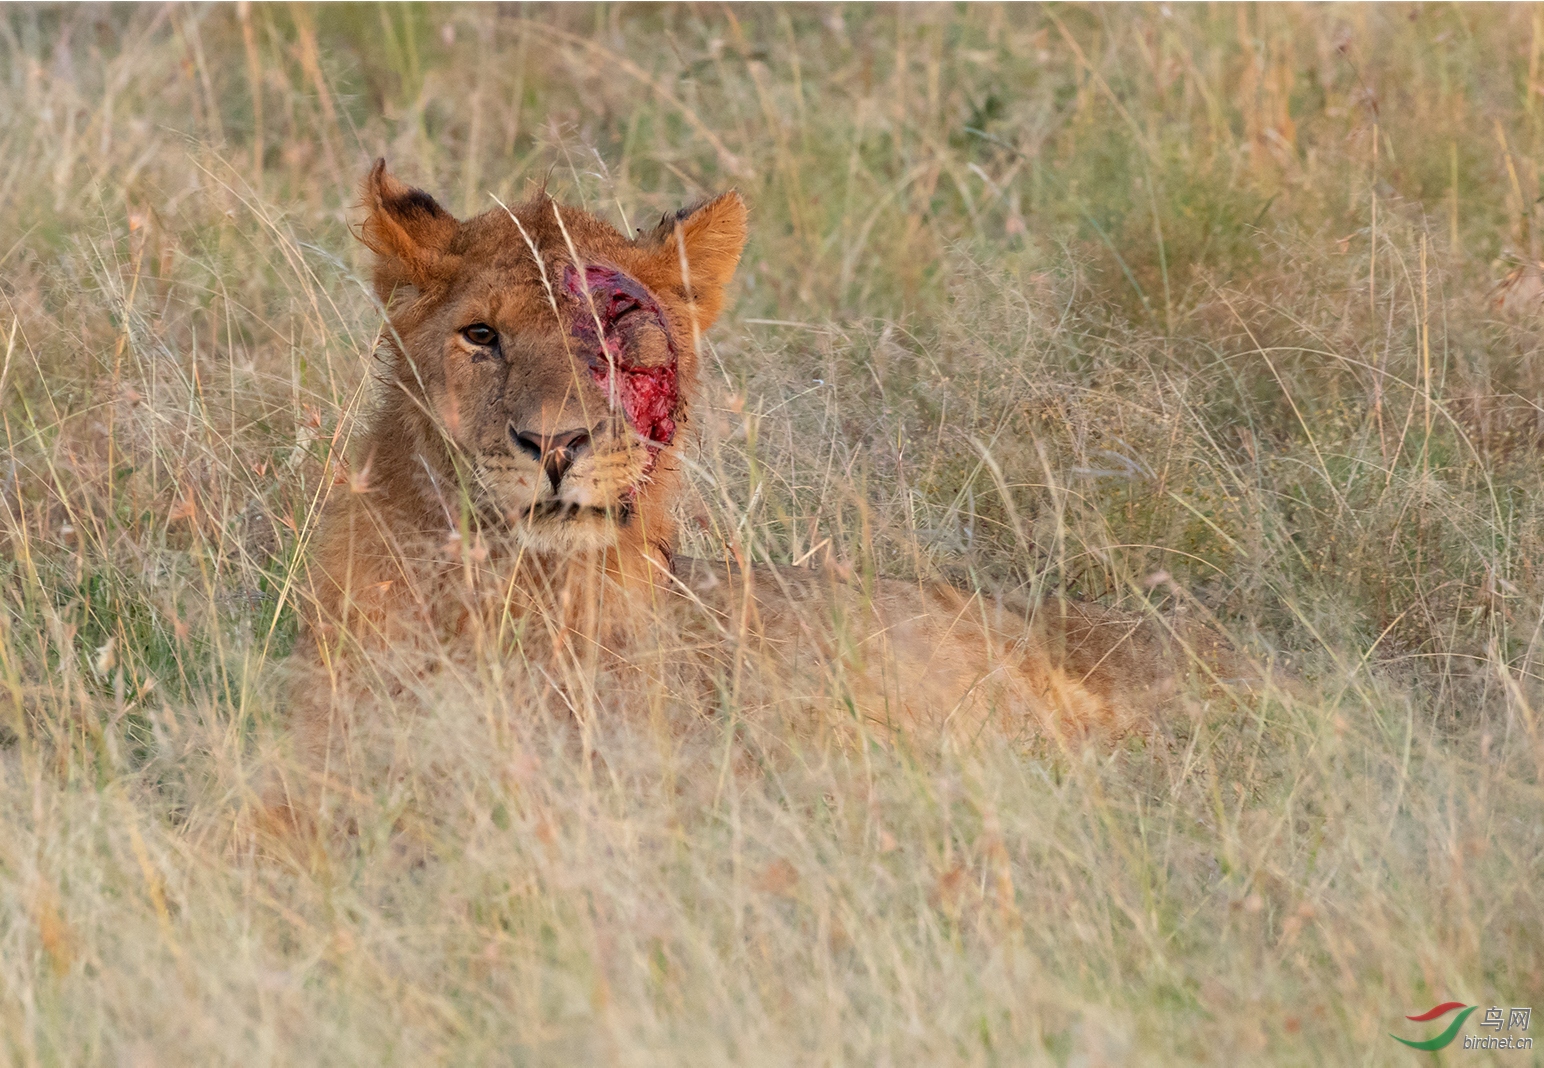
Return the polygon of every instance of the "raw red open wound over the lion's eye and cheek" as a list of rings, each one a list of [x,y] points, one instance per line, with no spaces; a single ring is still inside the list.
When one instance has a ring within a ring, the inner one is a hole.
[[[681,404],[675,338],[659,302],[641,282],[615,267],[585,267],[584,284],[579,272],[567,267],[564,289],[579,301],[573,332],[587,343],[584,357],[590,364],[590,377],[613,404],[621,403],[627,421],[648,443],[650,451],[658,454],[675,440]],[[647,316],[664,335],[667,360],[662,364],[638,363],[636,353],[630,352],[628,341],[638,335],[636,316]]]

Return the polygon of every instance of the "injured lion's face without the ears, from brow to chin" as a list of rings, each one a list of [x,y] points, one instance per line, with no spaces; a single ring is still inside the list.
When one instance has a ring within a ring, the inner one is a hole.
[[[479,503],[545,542],[610,537],[676,444],[690,333],[618,265],[554,261],[548,293],[513,259],[466,262],[401,349]]]

